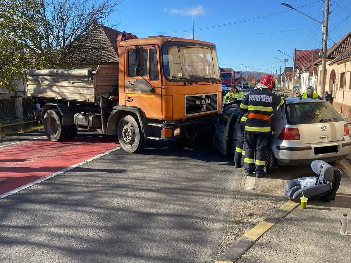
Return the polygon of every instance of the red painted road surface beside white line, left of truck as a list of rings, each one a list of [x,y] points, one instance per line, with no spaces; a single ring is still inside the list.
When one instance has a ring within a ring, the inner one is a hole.
[[[0,195],[118,147],[115,137],[76,137],[51,142],[46,137],[0,147]]]

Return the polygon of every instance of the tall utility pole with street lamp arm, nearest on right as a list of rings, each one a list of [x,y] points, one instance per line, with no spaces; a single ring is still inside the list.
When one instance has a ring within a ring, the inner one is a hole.
[[[293,8],[291,5],[286,4],[286,3],[280,3],[283,6],[286,6],[288,8],[291,8],[300,14],[305,15],[308,18],[311,18],[313,21],[318,22],[323,26],[323,33],[322,33],[322,40],[323,40],[323,51],[322,51],[322,74],[320,76],[320,87],[323,89],[323,97],[324,97],[324,91],[325,91],[325,68],[326,68],[326,54],[327,54],[327,42],[328,42],[328,19],[329,19],[329,0],[325,0],[325,10],[324,10],[324,23],[314,19],[313,17],[310,17],[309,15],[306,15],[305,13],[302,13],[301,11],[298,11],[297,9]]]

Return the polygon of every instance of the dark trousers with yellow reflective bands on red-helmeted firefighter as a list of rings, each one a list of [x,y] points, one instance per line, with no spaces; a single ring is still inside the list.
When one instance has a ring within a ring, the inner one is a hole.
[[[254,165],[256,165],[256,175],[264,174],[268,137],[268,134],[245,133],[244,169],[246,173],[253,172]],[[256,160],[254,160],[255,151]]]

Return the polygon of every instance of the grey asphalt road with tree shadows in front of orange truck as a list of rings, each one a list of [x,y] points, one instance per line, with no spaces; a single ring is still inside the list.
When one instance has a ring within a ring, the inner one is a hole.
[[[0,262],[212,262],[245,183],[230,162],[215,150],[117,150],[7,196]]]

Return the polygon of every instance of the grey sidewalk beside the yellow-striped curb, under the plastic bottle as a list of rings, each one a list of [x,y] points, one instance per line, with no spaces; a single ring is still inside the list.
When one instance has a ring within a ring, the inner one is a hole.
[[[351,179],[345,174],[335,201],[308,202],[307,209],[297,206],[237,262],[351,262],[351,234],[339,234],[343,213],[351,217]]]

